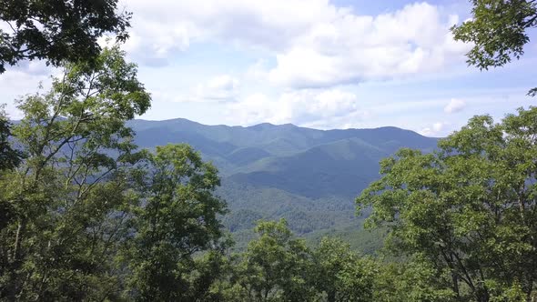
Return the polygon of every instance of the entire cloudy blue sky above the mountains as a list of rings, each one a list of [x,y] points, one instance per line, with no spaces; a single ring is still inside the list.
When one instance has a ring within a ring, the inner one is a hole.
[[[121,0],[120,0],[121,1]],[[140,118],[318,129],[398,126],[447,136],[471,116],[498,121],[537,99],[537,45],[489,71],[450,27],[467,0],[123,0],[123,49],[152,95]],[[2,25],[0,25],[2,26]],[[536,36],[537,37],[537,36]],[[104,39],[103,39],[104,41]],[[103,44],[105,42],[102,42]],[[46,88],[57,71],[22,62],[0,75],[0,103]]]

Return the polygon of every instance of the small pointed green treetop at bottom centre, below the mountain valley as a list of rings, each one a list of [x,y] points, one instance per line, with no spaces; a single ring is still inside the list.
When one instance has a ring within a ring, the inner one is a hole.
[[[284,219],[260,221],[258,238],[241,255],[237,276],[238,300],[309,301],[309,250],[303,239],[295,239]]]

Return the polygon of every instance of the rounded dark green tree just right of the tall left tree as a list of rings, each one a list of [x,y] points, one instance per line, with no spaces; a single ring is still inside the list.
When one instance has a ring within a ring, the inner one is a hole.
[[[157,146],[147,171],[146,201],[127,256],[130,292],[143,301],[196,301],[211,286],[207,270],[201,274],[198,268],[214,261],[198,262],[195,256],[223,251],[218,215],[226,212],[226,203],[214,195],[218,171],[187,145]]]

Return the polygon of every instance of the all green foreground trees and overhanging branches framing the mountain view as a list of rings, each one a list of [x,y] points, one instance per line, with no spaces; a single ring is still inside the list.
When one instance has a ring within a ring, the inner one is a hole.
[[[472,4],[474,18],[452,29],[474,43],[469,63],[520,57],[533,1]],[[226,183],[192,146],[136,145],[127,122],[151,96],[121,50],[130,14],[116,0],[0,6],[15,29],[0,31],[0,73],[32,59],[62,71],[17,101],[20,121],[0,118],[1,300],[537,299],[537,107],[499,122],[474,116],[434,150],[382,159],[356,199],[364,227],[384,239],[366,256],[352,235],[311,245],[286,219],[229,213],[217,194]],[[106,33],[117,43],[101,48]],[[252,230],[238,251],[229,215]]]

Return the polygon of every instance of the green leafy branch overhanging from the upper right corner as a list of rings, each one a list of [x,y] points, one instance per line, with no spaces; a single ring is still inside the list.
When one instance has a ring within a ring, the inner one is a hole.
[[[472,19],[451,28],[455,40],[473,43],[468,64],[482,69],[519,59],[537,26],[537,3],[528,0],[472,0]],[[530,96],[537,95],[532,88]]]

